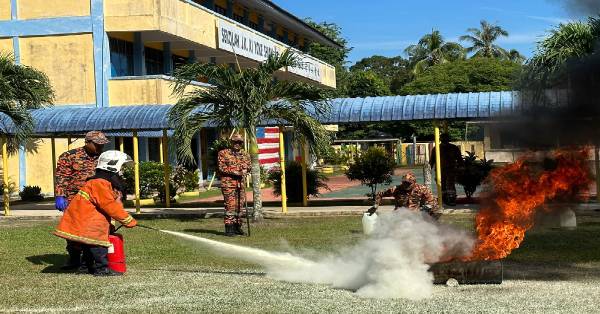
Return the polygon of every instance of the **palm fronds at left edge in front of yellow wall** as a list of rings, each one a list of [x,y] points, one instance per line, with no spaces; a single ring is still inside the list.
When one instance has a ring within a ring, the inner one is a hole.
[[[29,109],[50,105],[54,92],[48,77],[29,66],[18,65],[10,54],[0,54],[0,120],[8,118],[14,129],[0,127],[8,137],[10,153],[24,145],[33,132],[33,117]],[[4,122],[3,121],[3,122]]]

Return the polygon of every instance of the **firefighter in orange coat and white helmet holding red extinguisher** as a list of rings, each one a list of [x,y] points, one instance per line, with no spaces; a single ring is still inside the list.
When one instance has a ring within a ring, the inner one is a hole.
[[[123,208],[120,193],[115,193],[123,189],[119,177],[123,165],[131,162],[131,158],[120,151],[102,153],[95,175],[88,178],[72,198],[54,231],[54,235],[79,244],[87,270],[94,276],[121,274],[108,268],[111,218],[127,228],[137,225]]]

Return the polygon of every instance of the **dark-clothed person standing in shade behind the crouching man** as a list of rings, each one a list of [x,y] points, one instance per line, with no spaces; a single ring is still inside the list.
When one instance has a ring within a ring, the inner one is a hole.
[[[463,164],[458,146],[450,143],[450,135],[440,136],[440,168],[442,170],[442,201],[448,206],[456,205],[456,172]],[[431,151],[429,164],[435,166],[435,147]]]

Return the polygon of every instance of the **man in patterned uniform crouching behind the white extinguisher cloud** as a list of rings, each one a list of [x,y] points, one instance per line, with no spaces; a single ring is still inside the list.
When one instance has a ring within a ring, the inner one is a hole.
[[[411,172],[402,176],[400,185],[377,193],[377,204],[381,203],[383,197],[388,196],[394,197],[394,210],[405,207],[413,211],[426,211],[435,219],[440,216],[437,202],[431,190],[427,186],[417,183],[417,178]]]

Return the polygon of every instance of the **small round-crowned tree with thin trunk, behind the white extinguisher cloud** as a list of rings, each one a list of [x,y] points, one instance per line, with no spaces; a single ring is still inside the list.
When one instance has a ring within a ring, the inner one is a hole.
[[[388,156],[383,148],[370,147],[350,165],[346,177],[370,187],[371,193],[367,196],[375,200],[377,185],[389,185],[392,182],[395,166],[394,158]]]

